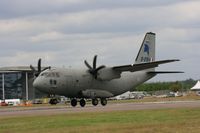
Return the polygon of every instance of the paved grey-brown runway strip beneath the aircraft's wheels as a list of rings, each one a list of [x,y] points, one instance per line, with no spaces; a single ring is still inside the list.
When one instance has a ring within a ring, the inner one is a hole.
[[[107,106],[86,105],[70,107],[66,105],[41,106],[41,107],[0,107],[0,117],[55,115],[63,113],[81,112],[111,112],[125,110],[148,110],[165,108],[200,108],[200,101],[167,101],[167,102],[144,102],[144,103],[112,103]]]

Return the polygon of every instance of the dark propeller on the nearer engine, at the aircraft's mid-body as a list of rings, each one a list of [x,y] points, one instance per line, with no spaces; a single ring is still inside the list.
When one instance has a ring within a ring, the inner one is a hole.
[[[101,66],[97,67],[97,55],[94,56],[93,67],[86,60],[84,61],[84,63],[88,67],[89,73],[92,74],[95,79],[97,79],[98,71],[103,69],[103,68],[105,68],[104,65],[101,65]]]

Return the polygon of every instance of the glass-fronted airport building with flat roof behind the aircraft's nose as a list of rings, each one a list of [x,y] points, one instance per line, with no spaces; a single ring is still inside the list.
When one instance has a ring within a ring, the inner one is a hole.
[[[29,67],[0,68],[0,99],[33,100],[45,96],[33,88],[33,80]]]

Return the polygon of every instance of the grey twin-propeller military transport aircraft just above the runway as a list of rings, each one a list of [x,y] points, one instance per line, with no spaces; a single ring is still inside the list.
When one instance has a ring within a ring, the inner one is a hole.
[[[78,102],[84,107],[85,99],[92,99],[94,106],[98,105],[100,100],[105,106],[107,98],[133,90],[156,74],[181,73],[155,71],[155,67],[160,64],[179,61],[177,59],[155,61],[155,36],[155,33],[146,33],[135,63],[130,65],[97,66],[97,55],[95,55],[92,65],[84,61],[86,69],[46,67],[42,70],[39,59],[38,68],[30,66],[36,76],[33,87],[50,95],[66,96],[71,99],[73,107]],[[52,97],[50,104],[56,103],[57,99]]]

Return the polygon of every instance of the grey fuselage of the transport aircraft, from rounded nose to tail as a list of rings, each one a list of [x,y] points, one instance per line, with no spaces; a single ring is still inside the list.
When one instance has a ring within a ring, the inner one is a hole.
[[[33,83],[34,87],[49,94],[63,95],[69,98],[113,97],[149,80],[155,75],[146,71],[124,72],[121,78],[111,81],[94,79],[84,69],[50,69],[42,72]],[[105,91],[102,92],[102,91]],[[86,94],[82,94],[82,93]],[[96,94],[101,93],[102,94]],[[98,96],[101,95],[101,96]]]

